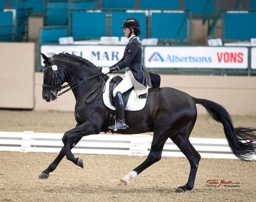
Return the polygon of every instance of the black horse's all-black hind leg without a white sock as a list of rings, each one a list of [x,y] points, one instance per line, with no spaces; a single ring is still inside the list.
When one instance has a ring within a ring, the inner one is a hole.
[[[184,186],[178,187],[176,189],[176,192],[185,192],[187,190],[193,189],[194,187],[198,163],[201,159],[201,156],[193,147],[193,145],[191,145],[188,136],[182,136],[181,134],[177,133],[171,137],[171,140],[179,147],[181,152],[187,157],[190,163],[188,182]]]

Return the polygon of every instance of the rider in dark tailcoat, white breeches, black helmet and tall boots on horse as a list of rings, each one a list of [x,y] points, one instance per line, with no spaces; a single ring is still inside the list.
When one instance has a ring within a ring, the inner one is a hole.
[[[117,85],[113,91],[117,110],[117,122],[108,127],[112,130],[126,129],[125,111],[122,94],[134,87],[134,90],[141,98],[147,96],[148,87],[151,87],[149,74],[142,66],[142,51],[137,36],[140,35],[140,22],[135,18],[127,18],[121,27],[124,35],[129,39],[124,51],[123,58],[109,68],[101,68],[101,72],[113,73],[125,69],[124,79]]]

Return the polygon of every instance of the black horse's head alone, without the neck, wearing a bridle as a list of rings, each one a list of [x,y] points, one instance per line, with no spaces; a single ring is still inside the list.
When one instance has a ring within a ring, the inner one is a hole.
[[[66,81],[66,73],[61,66],[55,64],[53,57],[47,57],[41,53],[44,59],[44,80],[42,96],[46,102],[51,102],[57,98],[58,92],[62,89],[62,84]]]

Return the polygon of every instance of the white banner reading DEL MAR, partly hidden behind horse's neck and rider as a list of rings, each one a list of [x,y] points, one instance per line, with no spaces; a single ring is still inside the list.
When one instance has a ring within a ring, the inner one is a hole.
[[[47,57],[54,54],[69,53],[89,60],[96,66],[111,66],[117,63],[124,55],[125,46],[103,45],[42,45],[41,53]],[[44,66],[41,57],[41,66]]]

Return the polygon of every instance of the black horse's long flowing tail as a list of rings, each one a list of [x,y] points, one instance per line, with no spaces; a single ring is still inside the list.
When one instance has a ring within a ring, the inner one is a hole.
[[[234,155],[243,161],[249,161],[256,151],[255,128],[234,128],[233,122],[227,110],[221,105],[207,99],[193,98],[196,104],[202,105],[212,119],[222,123],[228,145]]]

